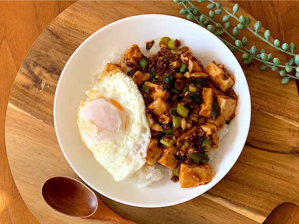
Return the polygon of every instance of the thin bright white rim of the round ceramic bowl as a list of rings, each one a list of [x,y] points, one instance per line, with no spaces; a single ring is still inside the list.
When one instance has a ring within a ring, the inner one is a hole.
[[[143,17],[145,17],[145,18],[146,18],[146,17],[148,17],[148,18],[150,18],[150,17],[158,17],[158,18],[159,18],[159,17],[160,17],[161,21],[163,21],[163,19],[164,19],[165,17],[169,17],[169,18],[171,18],[171,19],[173,19],[173,20],[178,20],[178,21],[180,21],[180,22],[183,22],[183,23],[186,23],[186,24],[188,24],[188,25],[193,26],[195,29],[200,29],[200,30],[201,30],[203,33],[205,33],[206,35],[210,35],[212,39],[214,39],[216,42],[218,42],[217,44],[224,44],[224,43],[223,43],[219,38],[217,38],[214,34],[212,34],[210,31],[206,30],[205,28],[201,27],[200,25],[198,25],[198,24],[196,24],[196,23],[194,23],[194,22],[192,22],[192,21],[188,21],[187,19],[183,19],[183,18],[177,17],[177,16],[169,16],[169,15],[164,15],[164,14],[142,14],[142,15],[136,15],[136,16],[129,16],[129,17],[126,17],[126,18],[123,18],[123,19],[114,21],[114,22],[112,22],[112,23],[110,23],[110,24],[107,24],[106,26],[103,26],[103,27],[100,28],[99,30],[95,31],[92,35],[90,35],[86,40],[84,40],[84,41],[78,46],[78,48],[74,51],[74,53],[70,56],[70,58],[68,59],[67,63],[65,64],[65,66],[64,66],[64,68],[63,68],[63,70],[62,70],[62,72],[61,72],[61,74],[60,74],[60,77],[64,75],[65,68],[69,65],[69,63],[70,63],[71,59],[74,57],[74,55],[77,54],[78,51],[79,51],[79,49],[83,48],[84,43],[88,42],[88,40],[91,39],[93,36],[97,35],[98,33],[102,32],[103,30],[108,29],[108,28],[111,27],[111,26],[114,26],[114,25],[117,24],[117,23],[127,22],[127,21],[131,21],[131,20],[135,20],[135,19],[138,20],[139,18],[143,18]],[[217,183],[219,183],[219,182],[223,179],[223,177],[225,177],[225,175],[226,175],[226,174],[231,170],[231,168],[235,165],[235,162],[238,160],[238,158],[239,158],[241,152],[243,151],[243,148],[244,148],[246,139],[247,139],[247,137],[248,137],[249,126],[250,126],[250,121],[251,121],[251,99],[250,99],[249,86],[248,86],[247,79],[246,79],[246,77],[245,77],[245,74],[244,74],[243,69],[242,69],[241,66],[240,66],[240,63],[239,63],[238,60],[235,58],[235,55],[234,55],[232,52],[228,52],[228,54],[230,54],[230,56],[233,56],[233,58],[236,60],[236,62],[237,62],[237,66],[239,66],[239,69],[242,71],[242,73],[239,74],[239,75],[243,75],[244,78],[245,78],[245,80],[246,80],[246,82],[244,83],[244,88],[246,88],[247,91],[245,91],[244,94],[247,94],[247,99],[248,99],[248,100],[247,100],[247,102],[244,101],[244,103],[247,103],[247,104],[248,104],[247,106],[248,106],[248,108],[250,109],[250,111],[249,111],[249,113],[248,113],[248,114],[249,114],[249,116],[248,116],[248,125],[247,125],[247,127],[244,127],[244,126],[243,126],[243,129],[242,129],[242,131],[243,131],[244,134],[245,134],[244,136],[246,136],[246,138],[244,138],[243,142],[240,144],[240,146],[241,146],[241,147],[240,147],[241,150],[240,150],[240,152],[237,152],[237,153],[236,153],[237,157],[236,157],[235,161],[232,161],[232,162],[230,163],[230,165],[227,166],[227,167],[229,168],[229,169],[227,169],[227,172],[225,172],[224,175],[221,175],[220,178],[218,177],[219,180],[218,180],[217,182],[211,184],[211,185],[209,186],[209,188],[206,189],[206,191],[208,191],[209,189],[211,189],[212,187],[214,187]],[[56,93],[57,93],[57,89],[60,87],[60,83],[61,83],[61,82],[60,82],[60,81],[61,81],[60,77],[59,77],[59,80],[58,80],[58,82],[57,82],[57,86],[56,86],[56,90],[55,90],[55,96],[54,96],[54,104],[53,104],[53,118],[54,118],[54,127],[55,127],[56,137],[57,137],[57,140],[58,140],[60,149],[61,149],[61,151],[62,151],[62,153],[63,153],[65,159],[68,161],[69,165],[72,167],[72,169],[75,171],[75,173],[76,173],[76,174],[77,174],[77,175],[78,175],[78,176],[79,176],[79,177],[80,177],[80,178],[81,178],[81,179],[82,179],[88,186],[90,186],[92,189],[94,189],[94,190],[97,191],[98,193],[100,193],[100,194],[104,195],[105,197],[110,198],[110,199],[112,199],[112,200],[114,200],[114,201],[116,201],[116,202],[123,203],[123,204],[126,204],[126,205],[135,206],[135,207],[142,207],[142,208],[160,208],[160,207],[167,207],[167,206],[177,205],[177,204],[184,203],[184,202],[186,202],[186,201],[192,200],[193,198],[196,198],[196,197],[198,197],[198,196],[200,196],[201,194],[204,194],[204,193],[206,192],[206,191],[205,191],[205,192],[203,192],[203,193],[191,194],[189,197],[185,197],[185,198],[183,198],[183,199],[181,199],[181,200],[176,200],[176,201],[171,202],[171,203],[167,202],[167,203],[160,203],[160,204],[141,204],[141,203],[132,203],[132,202],[127,202],[127,201],[120,200],[120,199],[118,199],[118,198],[115,198],[113,195],[103,193],[100,189],[97,189],[97,188],[96,188],[95,186],[93,186],[92,184],[89,184],[88,181],[86,181],[86,179],[85,179],[82,175],[79,174],[79,172],[75,169],[75,167],[74,167],[74,166],[72,165],[72,163],[69,161],[68,157],[65,155],[64,149],[61,147],[61,145],[62,145],[62,144],[61,144],[61,140],[59,139],[59,136],[58,136],[58,130],[57,130],[57,125],[56,125],[56,123],[57,123],[57,122],[56,122],[56,112],[55,112],[55,111],[56,111],[56,109],[57,109],[57,107],[56,107],[56,101],[57,101],[57,97],[58,97]]]

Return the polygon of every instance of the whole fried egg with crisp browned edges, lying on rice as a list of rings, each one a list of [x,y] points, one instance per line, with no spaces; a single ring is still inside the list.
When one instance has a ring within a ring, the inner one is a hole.
[[[85,92],[78,108],[81,138],[95,159],[121,181],[146,162],[150,127],[135,82],[113,70]]]

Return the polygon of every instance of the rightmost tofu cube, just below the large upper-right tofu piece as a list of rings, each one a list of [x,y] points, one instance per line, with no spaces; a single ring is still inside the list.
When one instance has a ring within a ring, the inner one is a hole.
[[[235,112],[237,101],[223,95],[216,95],[215,98],[220,107],[219,115],[221,115],[225,120],[230,120],[230,116]]]

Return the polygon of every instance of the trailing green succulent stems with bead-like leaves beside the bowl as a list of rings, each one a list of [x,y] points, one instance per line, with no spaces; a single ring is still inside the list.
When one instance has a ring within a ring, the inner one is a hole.
[[[239,50],[243,53],[243,63],[248,65],[251,63],[252,59],[256,59],[263,63],[259,67],[260,70],[266,71],[268,68],[272,69],[274,72],[278,72],[282,76],[281,83],[287,84],[290,81],[290,78],[299,79],[299,55],[295,54],[294,51],[296,49],[296,45],[292,42],[290,45],[284,43],[281,45],[279,40],[274,40],[273,43],[269,42],[269,38],[271,36],[270,30],[266,30],[264,32],[264,36],[261,36],[258,32],[262,28],[261,21],[257,21],[254,24],[254,30],[252,30],[248,25],[251,23],[250,18],[245,16],[240,16],[239,18],[235,16],[240,10],[240,5],[237,3],[233,7],[233,13],[230,13],[225,8],[221,6],[220,2],[214,2],[213,0],[208,0],[211,2],[207,5],[207,8],[210,9],[208,16],[200,12],[192,3],[192,0],[173,0],[178,5],[182,5],[184,8],[180,10],[181,15],[186,15],[188,20],[195,20],[200,26],[206,28],[211,33],[215,34],[226,46],[228,46],[231,52],[235,52]],[[197,2],[205,2],[206,0],[197,0]],[[187,7],[186,4],[189,4],[191,7]],[[216,9],[215,9],[216,8]],[[215,10],[214,10],[215,9]],[[214,10],[214,11],[213,11]],[[215,14],[221,15],[223,12],[226,14],[222,17],[222,22],[217,23],[214,21]],[[230,18],[234,18],[239,22],[239,24],[232,29],[231,34],[228,32],[230,28]],[[216,30],[215,30],[215,27]],[[286,53],[292,55],[293,57],[290,59],[289,62],[285,63],[284,65],[280,64],[279,58],[273,58],[272,54],[267,54],[265,49],[258,49],[256,46],[252,46],[250,49],[246,48],[247,45],[247,38],[244,36],[241,40],[237,40],[236,37],[239,36],[240,30],[248,29],[252,32],[255,36],[259,39],[263,40],[267,44],[271,45],[272,47]],[[221,37],[221,35],[227,34],[232,40],[235,41],[235,44],[230,44],[225,39]],[[281,68],[281,70],[279,70]],[[293,76],[290,74],[293,69],[296,69],[296,75]]]

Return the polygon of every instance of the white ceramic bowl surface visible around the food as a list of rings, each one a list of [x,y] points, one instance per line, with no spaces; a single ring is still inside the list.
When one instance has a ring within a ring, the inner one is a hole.
[[[216,175],[206,185],[181,189],[168,173],[159,183],[138,189],[129,181],[114,181],[81,140],[76,123],[84,91],[91,85],[93,73],[112,50],[131,44],[169,36],[177,38],[206,66],[222,63],[235,76],[233,89],[239,96],[236,116],[229,132],[219,142],[211,166]],[[54,124],[62,152],[70,166],[90,187],[115,201],[138,207],[164,207],[195,198],[217,184],[231,169],[244,147],[250,124],[250,95],[244,72],[235,56],[216,36],[201,26],[174,16],[140,15],[113,22],[88,37],[66,63],[57,84],[54,99]]]

